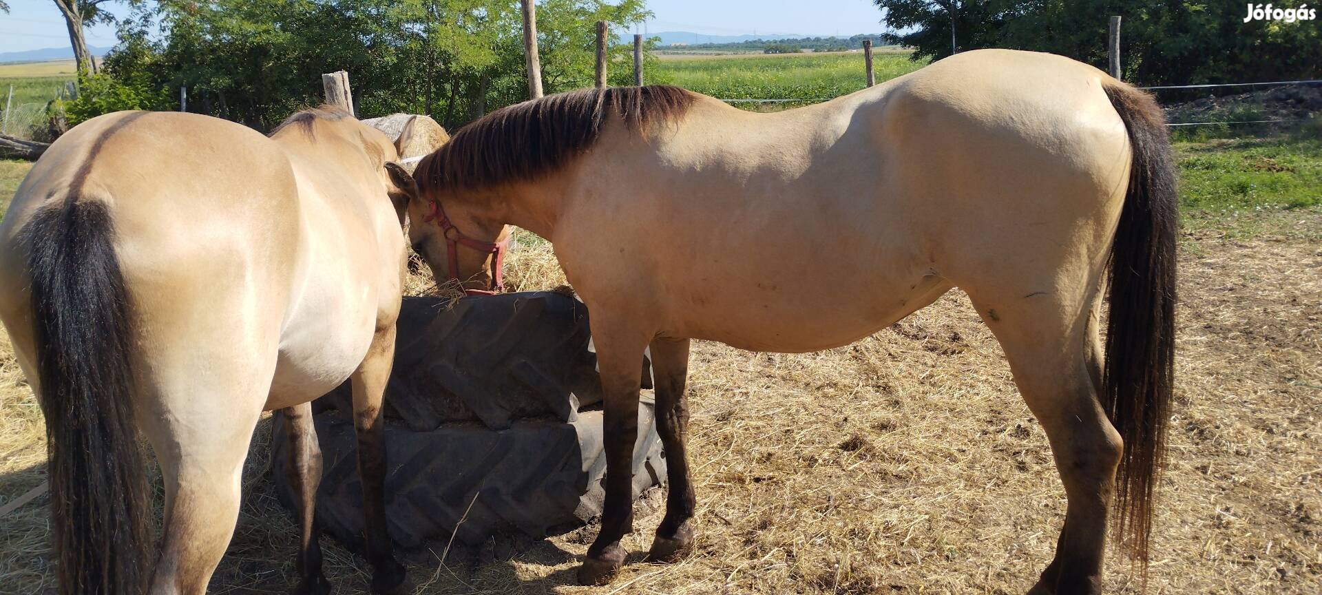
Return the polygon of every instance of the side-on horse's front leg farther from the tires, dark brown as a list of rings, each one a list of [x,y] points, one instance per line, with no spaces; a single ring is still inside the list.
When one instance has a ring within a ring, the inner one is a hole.
[[[652,369],[656,372],[657,432],[665,448],[666,493],[665,518],[657,526],[648,558],[672,562],[693,550],[693,512],[697,498],[689,477],[685,434],[689,430],[689,403],[683,395],[689,374],[689,340],[652,341]]]

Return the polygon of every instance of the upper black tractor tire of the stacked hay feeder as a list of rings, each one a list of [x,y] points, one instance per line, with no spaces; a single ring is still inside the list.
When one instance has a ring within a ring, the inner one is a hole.
[[[550,415],[572,422],[602,402],[587,307],[539,291],[463,298],[405,298],[386,416],[411,430],[477,422],[505,430],[514,419]],[[642,387],[652,387],[646,357]],[[349,382],[313,403],[352,410]]]

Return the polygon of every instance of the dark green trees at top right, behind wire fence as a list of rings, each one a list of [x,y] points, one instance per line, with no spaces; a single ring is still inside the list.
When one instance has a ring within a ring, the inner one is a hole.
[[[1244,5],[1210,0],[874,0],[891,29],[886,41],[915,49],[915,60],[958,49],[1051,52],[1107,66],[1107,21],[1125,19],[1126,81],[1140,85],[1255,82],[1322,74],[1315,21],[1244,22]],[[954,19],[951,9],[954,8]],[[953,26],[953,32],[952,32]]]

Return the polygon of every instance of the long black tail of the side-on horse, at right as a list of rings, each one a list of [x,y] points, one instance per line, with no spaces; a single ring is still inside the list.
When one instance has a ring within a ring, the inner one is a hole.
[[[1117,538],[1146,567],[1153,491],[1166,451],[1175,354],[1175,159],[1151,95],[1105,86],[1129,130],[1133,167],[1110,254],[1110,320],[1101,405],[1124,439]]]

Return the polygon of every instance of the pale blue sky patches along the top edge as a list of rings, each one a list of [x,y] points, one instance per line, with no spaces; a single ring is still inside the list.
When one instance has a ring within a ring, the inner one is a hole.
[[[123,3],[103,7],[127,12]],[[69,45],[65,21],[50,0],[9,0],[9,15],[0,15],[0,52]],[[850,36],[883,29],[882,12],[871,0],[648,0],[648,8],[656,13],[645,26],[650,33]],[[89,45],[115,44],[110,26],[90,28],[85,36]]]

